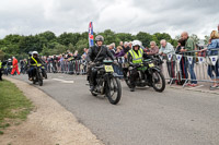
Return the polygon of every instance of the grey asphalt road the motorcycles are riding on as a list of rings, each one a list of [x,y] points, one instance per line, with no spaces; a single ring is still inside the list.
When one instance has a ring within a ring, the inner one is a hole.
[[[27,81],[27,75],[13,76]],[[31,84],[31,82],[28,82]],[[185,89],[129,92],[117,106],[93,97],[84,76],[48,74],[36,87],[108,145],[219,145],[219,95]]]

